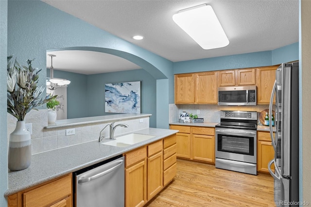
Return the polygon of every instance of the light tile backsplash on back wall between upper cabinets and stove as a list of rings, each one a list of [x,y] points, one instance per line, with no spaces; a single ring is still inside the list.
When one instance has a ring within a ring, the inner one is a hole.
[[[170,104],[170,122],[178,121],[179,114],[183,111],[197,114],[198,118],[204,118],[205,122],[220,122],[220,111],[257,111],[268,109],[269,105],[256,106],[222,106],[209,104]]]

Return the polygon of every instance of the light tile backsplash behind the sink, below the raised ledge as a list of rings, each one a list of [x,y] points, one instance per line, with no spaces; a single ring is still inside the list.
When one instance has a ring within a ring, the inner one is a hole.
[[[9,142],[10,133],[16,127],[17,119],[10,115],[7,117],[7,138]],[[32,123],[33,134],[31,135],[32,154],[37,154],[57,148],[68,147],[70,145],[80,144],[87,141],[97,140],[100,131],[109,123],[83,124],[72,127],[62,127],[57,129],[44,129],[48,125],[48,110],[32,110],[25,117],[26,123]],[[139,119],[125,120],[122,123],[128,124],[128,128],[118,127],[115,135],[121,135],[140,129],[149,128],[149,117],[143,118],[143,122]],[[75,134],[66,136],[66,129],[75,129]],[[109,137],[108,127],[101,134]]]

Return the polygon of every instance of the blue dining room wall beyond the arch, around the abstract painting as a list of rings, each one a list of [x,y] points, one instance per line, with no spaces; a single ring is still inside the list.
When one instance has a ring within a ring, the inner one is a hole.
[[[128,81],[141,81],[141,113],[156,115],[156,79],[146,70],[84,75],[54,69],[54,77],[71,81],[67,87],[68,119],[111,115],[104,109],[104,85]],[[150,117],[150,127],[156,127],[156,116]]]

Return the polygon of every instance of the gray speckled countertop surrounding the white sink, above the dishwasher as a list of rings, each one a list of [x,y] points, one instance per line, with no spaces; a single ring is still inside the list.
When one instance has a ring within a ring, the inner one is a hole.
[[[29,168],[8,173],[8,190],[4,196],[121,155],[177,132],[178,130],[147,128],[131,133],[153,135],[154,138],[127,147],[115,147],[101,144],[98,141],[90,141],[32,155],[32,163]],[[109,141],[109,139],[103,140],[103,142],[105,141]]]

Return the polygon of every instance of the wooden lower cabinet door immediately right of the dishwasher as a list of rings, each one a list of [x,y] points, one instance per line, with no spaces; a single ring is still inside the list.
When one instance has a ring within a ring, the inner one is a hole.
[[[125,207],[142,207],[147,201],[146,159],[125,169]]]

